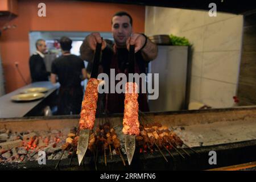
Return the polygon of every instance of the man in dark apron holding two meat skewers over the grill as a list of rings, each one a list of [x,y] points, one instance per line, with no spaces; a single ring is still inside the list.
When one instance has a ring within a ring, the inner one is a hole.
[[[154,60],[158,53],[156,44],[152,43],[144,34],[133,33],[133,19],[126,12],[118,12],[112,18],[112,34],[114,45],[110,46],[102,41],[98,32],[86,36],[80,47],[82,59],[92,63],[97,43],[102,43],[101,70],[110,77],[110,69],[115,69],[115,75],[125,73],[128,78],[129,46],[135,45],[135,73],[146,73],[146,64]],[[117,84],[117,82],[115,82]],[[140,84],[141,87],[141,84]],[[139,88],[141,90],[141,88]],[[125,94],[106,94],[106,109],[110,113],[122,113]],[[139,109],[149,111],[146,93],[139,93]]]

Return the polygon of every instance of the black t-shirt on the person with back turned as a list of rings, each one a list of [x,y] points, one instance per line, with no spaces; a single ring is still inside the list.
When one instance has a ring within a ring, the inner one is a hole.
[[[81,85],[82,68],[85,68],[84,61],[76,55],[60,56],[52,62],[52,73],[64,87]]]

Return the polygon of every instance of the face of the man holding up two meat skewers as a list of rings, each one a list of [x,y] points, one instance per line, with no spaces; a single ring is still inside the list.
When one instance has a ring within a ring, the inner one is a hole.
[[[126,40],[131,36],[132,32],[133,27],[131,27],[128,16],[114,16],[112,18],[112,35],[117,46],[125,46]]]

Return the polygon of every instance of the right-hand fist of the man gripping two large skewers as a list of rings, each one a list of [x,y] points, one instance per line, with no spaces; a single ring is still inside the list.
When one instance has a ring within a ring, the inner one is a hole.
[[[141,34],[132,34],[127,40],[126,40],[126,46],[129,50],[130,45],[135,45],[135,52],[138,52],[146,42],[146,38]]]

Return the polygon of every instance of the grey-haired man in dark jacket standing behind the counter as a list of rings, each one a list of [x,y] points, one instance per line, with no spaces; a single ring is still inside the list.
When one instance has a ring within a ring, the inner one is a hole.
[[[30,57],[30,75],[32,82],[49,81],[50,72],[46,71],[44,63],[44,52],[46,52],[46,42],[43,39],[36,41],[36,52]]]

